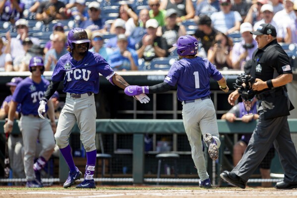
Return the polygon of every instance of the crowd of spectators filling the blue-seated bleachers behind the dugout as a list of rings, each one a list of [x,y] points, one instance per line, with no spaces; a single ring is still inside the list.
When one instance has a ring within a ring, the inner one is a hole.
[[[0,71],[27,71],[34,56],[53,70],[67,53],[67,32],[80,27],[115,70],[168,69],[179,36],[199,41],[198,55],[218,69],[242,69],[257,43],[249,31],[277,29],[289,57],[297,56],[293,0],[2,0]]]

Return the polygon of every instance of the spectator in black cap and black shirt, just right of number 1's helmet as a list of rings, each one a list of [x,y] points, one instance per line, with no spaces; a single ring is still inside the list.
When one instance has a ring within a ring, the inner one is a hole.
[[[206,58],[207,52],[212,46],[218,31],[212,27],[211,19],[207,15],[202,15],[197,24],[198,29],[195,31],[194,36],[201,42],[203,48],[198,51],[198,54],[199,56]],[[203,51],[204,54],[200,54],[200,52]]]

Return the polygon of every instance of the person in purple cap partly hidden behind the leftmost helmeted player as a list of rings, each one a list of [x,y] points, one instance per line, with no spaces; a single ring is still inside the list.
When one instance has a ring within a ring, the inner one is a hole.
[[[10,82],[6,83],[6,86],[9,86],[11,95],[7,96],[0,108],[0,120],[7,118],[8,110],[9,110],[9,103],[12,99],[12,94],[16,88],[16,85],[21,82],[23,78],[21,77],[14,77],[11,79]],[[17,105],[14,119],[19,118],[21,105]],[[12,169],[13,178],[25,178],[24,172],[24,163],[22,158],[21,149],[16,149],[17,144],[23,144],[23,139],[21,134],[10,134],[8,138],[8,155],[10,160],[10,166]],[[21,146],[22,147],[22,146]]]

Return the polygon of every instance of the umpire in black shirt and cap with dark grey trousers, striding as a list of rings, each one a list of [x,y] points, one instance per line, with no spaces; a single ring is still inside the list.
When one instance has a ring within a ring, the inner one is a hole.
[[[285,172],[284,181],[276,189],[297,188],[297,153],[291,138],[288,115],[294,109],[287,94],[286,84],[293,80],[289,57],[277,43],[276,29],[271,24],[261,24],[256,35],[258,49],[253,53],[250,75],[255,78],[252,85],[258,99],[259,119],[249,144],[231,171],[221,173],[221,178],[242,189],[251,174],[265,157],[271,144],[277,150]],[[238,91],[229,95],[228,102],[235,105]]]

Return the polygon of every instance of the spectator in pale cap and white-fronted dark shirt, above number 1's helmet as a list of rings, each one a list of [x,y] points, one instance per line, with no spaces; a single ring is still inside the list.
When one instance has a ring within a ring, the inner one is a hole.
[[[177,16],[175,9],[170,8],[167,10],[165,25],[162,27],[159,26],[157,31],[157,35],[161,35],[167,41],[167,56],[176,49],[172,45],[177,43],[178,38],[186,35],[185,27],[177,24]]]

